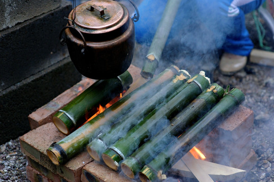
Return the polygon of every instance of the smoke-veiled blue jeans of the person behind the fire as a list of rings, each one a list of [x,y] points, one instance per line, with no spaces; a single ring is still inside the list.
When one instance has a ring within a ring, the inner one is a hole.
[[[245,14],[259,8],[264,1],[256,0],[241,6],[238,16],[228,17],[228,6],[232,0],[182,0],[167,44],[179,41],[199,52],[217,49],[247,56],[253,49],[253,43],[245,26]],[[139,6],[140,20],[135,23],[137,42],[151,43],[166,2],[144,0]]]

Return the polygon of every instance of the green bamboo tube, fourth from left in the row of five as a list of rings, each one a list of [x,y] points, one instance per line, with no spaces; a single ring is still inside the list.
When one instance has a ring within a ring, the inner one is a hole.
[[[216,83],[204,90],[193,102],[182,110],[163,131],[150,141],[143,144],[121,163],[125,175],[134,178],[144,165],[150,162],[170,142],[177,139],[187,127],[195,123],[204,113],[208,112],[223,97],[224,89]]]

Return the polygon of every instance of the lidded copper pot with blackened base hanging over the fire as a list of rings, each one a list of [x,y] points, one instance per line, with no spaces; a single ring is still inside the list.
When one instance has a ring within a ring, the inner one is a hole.
[[[131,64],[134,24],[122,4],[92,0],[71,11],[60,39],[66,43],[71,60],[82,75],[109,79],[125,72]]]

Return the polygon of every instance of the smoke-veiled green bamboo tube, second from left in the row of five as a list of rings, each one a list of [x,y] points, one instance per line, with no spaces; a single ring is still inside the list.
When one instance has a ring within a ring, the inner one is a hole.
[[[129,129],[138,124],[142,118],[172,95],[189,78],[190,75],[185,70],[180,70],[179,75],[176,75],[176,77],[164,86],[157,94],[148,99],[144,104],[141,104],[138,109],[129,113],[129,117],[123,117],[119,121],[119,124],[113,126],[109,132],[99,134],[96,139],[92,140],[91,143],[87,145],[87,151],[90,156],[96,161],[101,161],[102,152],[104,152],[110,145],[114,144],[119,138],[124,136]]]

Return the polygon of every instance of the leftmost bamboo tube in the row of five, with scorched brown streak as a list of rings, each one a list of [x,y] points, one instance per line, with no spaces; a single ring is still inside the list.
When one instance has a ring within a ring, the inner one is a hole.
[[[140,103],[140,98],[145,100],[149,97],[150,93],[153,95],[154,92],[157,92],[168,80],[172,79],[178,70],[176,66],[170,66],[155,78],[121,98],[114,105],[98,114],[61,141],[53,143],[47,149],[47,155],[51,161],[55,165],[63,164],[78,154],[102,129],[107,132],[112,124],[119,121],[119,118],[123,117],[129,110],[138,106],[137,103]]]

